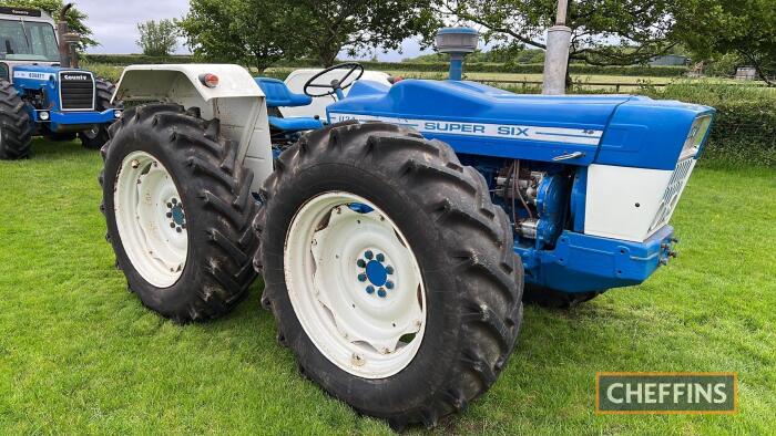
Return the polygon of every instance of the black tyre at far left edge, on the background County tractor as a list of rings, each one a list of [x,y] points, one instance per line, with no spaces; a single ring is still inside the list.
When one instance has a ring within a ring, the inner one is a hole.
[[[0,159],[13,160],[30,156],[32,124],[13,85],[0,80]]]

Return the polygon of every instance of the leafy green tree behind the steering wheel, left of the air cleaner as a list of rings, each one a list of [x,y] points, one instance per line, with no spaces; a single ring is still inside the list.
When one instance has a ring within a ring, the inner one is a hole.
[[[297,0],[293,2],[293,32],[324,66],[337,54],[370,49],[400,50],[412,35],[428,40],[436,30],[429,0]]]

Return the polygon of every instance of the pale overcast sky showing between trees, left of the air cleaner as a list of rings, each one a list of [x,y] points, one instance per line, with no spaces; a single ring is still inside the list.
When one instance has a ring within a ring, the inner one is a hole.
[[[188,0],[71,0],[78,9],[89,15],[86,24],[94,32],[101,45],[91,48],[90,53],[137,53],[137,23],[147,20],[181,18],[188,11]],[[404,54],[377,53],[380,60],[399,61],[419,54],[417,42],[408,40],[402,44]],[[181,44],[180,53],[187,53]],[[340,58],[345,58],[343,54]]]

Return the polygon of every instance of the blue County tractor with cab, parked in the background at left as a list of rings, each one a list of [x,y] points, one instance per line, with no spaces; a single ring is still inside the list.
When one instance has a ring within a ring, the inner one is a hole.
[[[32,137],[73,141],[98,149],[121,116],[113,85],[78,68],[78,35],[65,14],[0,7],[0,159],[30,155]]]

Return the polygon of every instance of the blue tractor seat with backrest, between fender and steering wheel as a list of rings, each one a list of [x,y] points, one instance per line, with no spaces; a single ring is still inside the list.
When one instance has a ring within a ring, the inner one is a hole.
[[[293,93],[283,81],[269,77],[255,77],[256,84],[266,96],[267,107],[296,107],[313,103],[313,97]],[[269,116],[269,126],[283,132],[315,131],[324,126],[318,118],[307,116]]]

